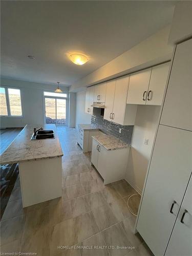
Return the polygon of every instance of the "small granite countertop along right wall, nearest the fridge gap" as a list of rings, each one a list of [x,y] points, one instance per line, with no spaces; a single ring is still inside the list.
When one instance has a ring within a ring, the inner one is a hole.
[[[109,135],[92,136],[97,142],[106,148],[106,150],[118,150],[119,148],[129,147],[128,144],[122,140]]]

